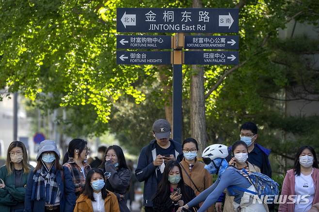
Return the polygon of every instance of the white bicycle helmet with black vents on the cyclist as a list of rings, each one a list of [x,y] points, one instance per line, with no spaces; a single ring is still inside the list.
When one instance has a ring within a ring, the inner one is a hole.
[[[216,158],[226,158],[228,156],[227,146],[223,144],[213,144],[205,148],[202,157],[205,164],[209,164]],[[209,160],[209,159],[210,160]]]

